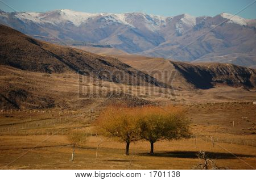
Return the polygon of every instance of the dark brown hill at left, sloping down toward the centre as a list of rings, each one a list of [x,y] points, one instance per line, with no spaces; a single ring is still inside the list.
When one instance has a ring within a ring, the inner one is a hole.
[[[164,86],[116,58],[32,39],[0,25],[0,64],[41,73],[77,72],[127,85]],[[139,81],[138,81],[139,80]]]

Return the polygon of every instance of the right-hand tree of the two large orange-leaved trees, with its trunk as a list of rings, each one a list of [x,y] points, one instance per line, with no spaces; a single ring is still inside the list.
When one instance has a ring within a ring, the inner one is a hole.
[[[190,136],[188,121],[177,108],[142,108],[139,118],[140,136],[150,142],[150,154],[154,154],[154,143]]]

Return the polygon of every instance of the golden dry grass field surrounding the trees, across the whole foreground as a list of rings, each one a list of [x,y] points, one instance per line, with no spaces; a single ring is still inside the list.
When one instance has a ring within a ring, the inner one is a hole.
[[[183,107],[191,119],[193,138],[156,142],[155,155],[149,154],[149,142],[137,141],[130,145],[129,156],[124,154],[124,143],[96,133],[94,120],[100,109],[1,113],[0,166],[1,169],[193,169],[201,163],[196,153],[202,150],[219,167],[255,169],[255,105],[219,103]],[[86,132],[88,138],[76,149],[75,160],[69,161],[72,146],[65,134],[77,129]]]

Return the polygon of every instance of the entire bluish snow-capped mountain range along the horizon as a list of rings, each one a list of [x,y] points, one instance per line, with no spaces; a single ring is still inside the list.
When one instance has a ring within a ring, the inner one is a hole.
[[[221,61],[256,65],[255,19],[228,13],[214,17],[188,14],[164,17],[144,12],[0,11],[0,23],[56,43],[110,44],[129,53],[183,61],[217,61],[211,57],[229,57]],[[227,56],[230,54],[240,57]]]

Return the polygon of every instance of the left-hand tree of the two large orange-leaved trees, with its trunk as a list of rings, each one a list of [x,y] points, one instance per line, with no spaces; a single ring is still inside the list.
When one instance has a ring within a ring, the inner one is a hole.
[[[130,143],[141,139],[135,109],[110,106],[101,114],[97,126],[106,136],[118,137],[126,142],[125,154],[129,155]]]

